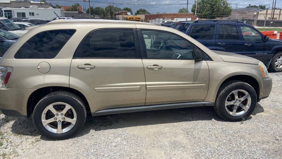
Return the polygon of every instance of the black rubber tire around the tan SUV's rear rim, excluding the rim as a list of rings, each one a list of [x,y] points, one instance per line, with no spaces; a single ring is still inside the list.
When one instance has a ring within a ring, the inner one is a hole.
[[[48,131],[42,124],[41,115],[44,109],[55,102],[67,103],[68,105],[71,105],[76,112],[76,122],[67,132],[53,133]],[[53,140],[67,139],[75,135],[83,127],[85,119],[86,109],[82,100],[77,95],[66,91],[52,92],[46,95],[37,103],[33,110],[33,123],[36,129],[41,133],[41,135]]]

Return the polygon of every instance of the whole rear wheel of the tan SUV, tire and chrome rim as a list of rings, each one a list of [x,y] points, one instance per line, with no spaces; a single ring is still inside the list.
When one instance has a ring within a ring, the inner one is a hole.
[[[85,119],[82,100],[70,92],[52,92],[43,97],[33,110],[36,129],[53,140],[75,135],[83,127]]]

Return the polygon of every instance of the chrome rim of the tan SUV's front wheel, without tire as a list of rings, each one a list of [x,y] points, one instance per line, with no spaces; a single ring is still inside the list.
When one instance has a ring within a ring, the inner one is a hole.
[[[232,116],[245,114],[251,106],[251,95],[245,90],[234,90],[225,100],[225,109]]]

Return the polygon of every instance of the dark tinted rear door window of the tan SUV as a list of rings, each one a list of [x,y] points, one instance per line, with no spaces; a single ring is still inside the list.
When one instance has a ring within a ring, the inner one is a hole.
[[[74,58],[136,58],[132,29],[91,32],[79,44]]]

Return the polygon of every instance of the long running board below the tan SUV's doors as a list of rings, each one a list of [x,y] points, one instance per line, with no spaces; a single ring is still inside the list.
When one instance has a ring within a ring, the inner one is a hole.
[[[186,102],[186,103],[174,103],[174,104],[161,104],[161,105],[145,105],[136,107],[121,107],[99,110],[91,113],[92,116],[98,115],[109,115],[109,114],[120,114],[128,112],[143,112],[150,110],[164,110],[164,109],[175,109],[175,108],[187,108],[187,107],[201,107],[201,106],[214,106],[214,103],[210,102]]]

